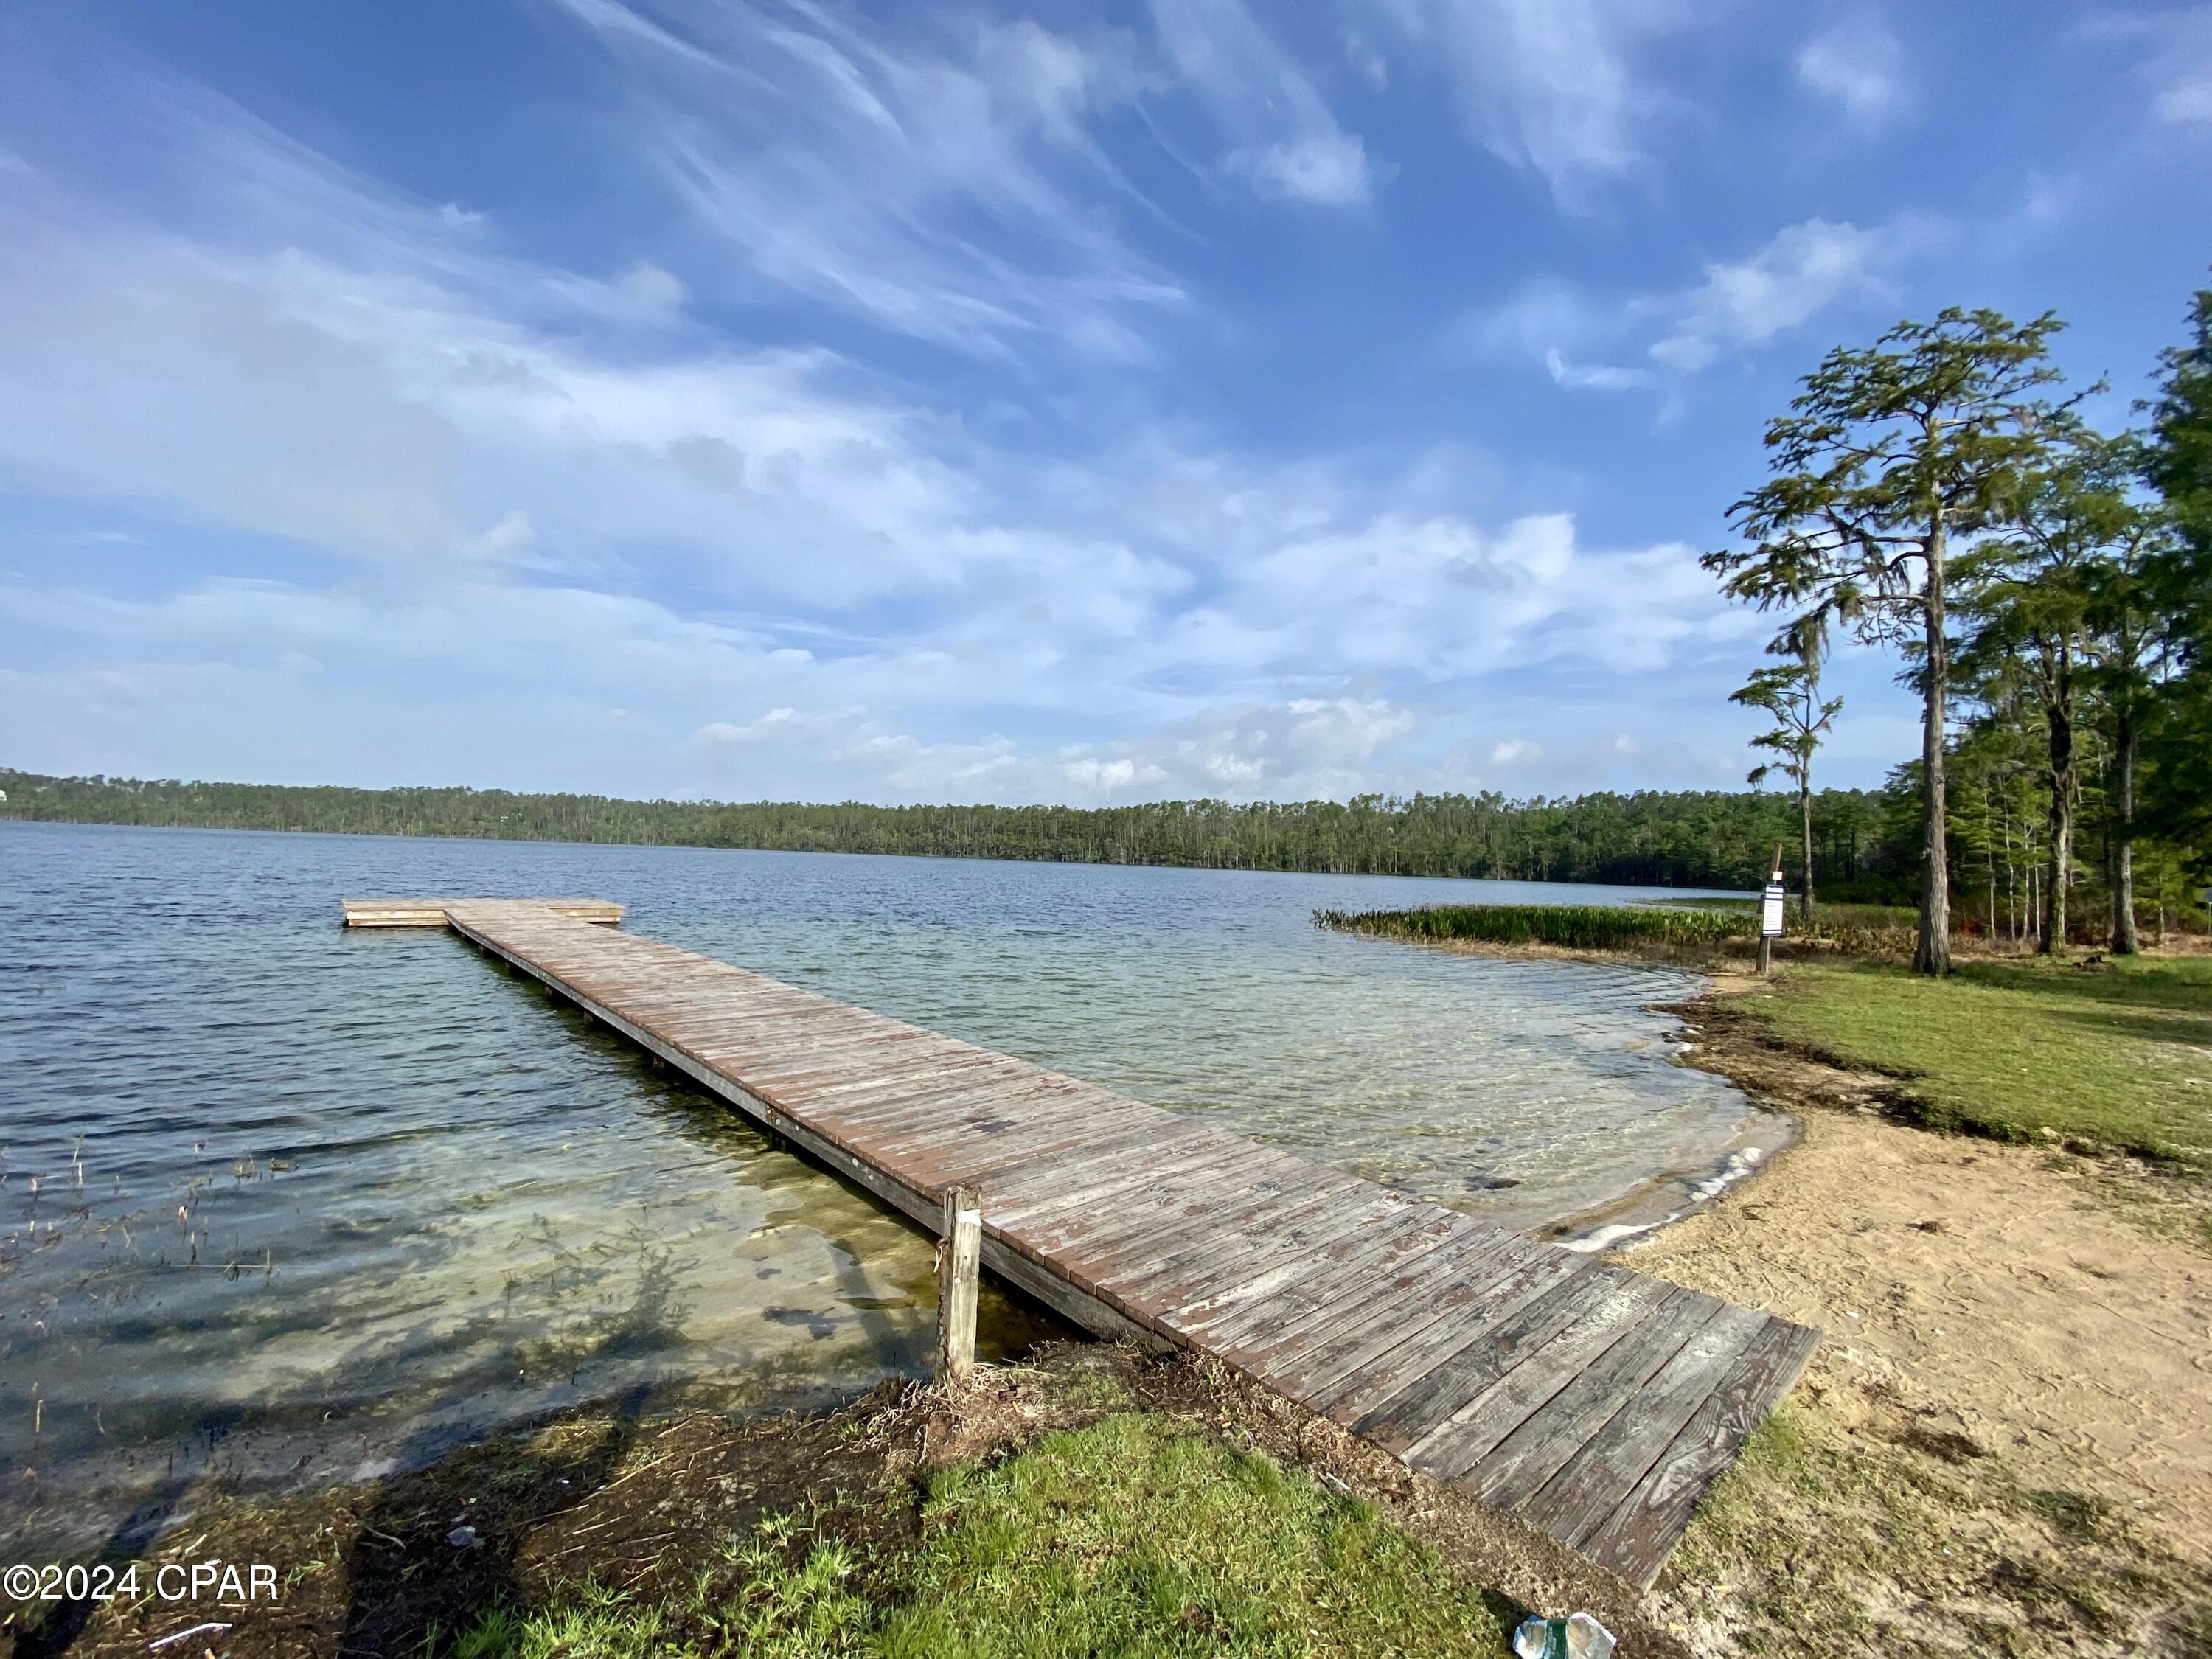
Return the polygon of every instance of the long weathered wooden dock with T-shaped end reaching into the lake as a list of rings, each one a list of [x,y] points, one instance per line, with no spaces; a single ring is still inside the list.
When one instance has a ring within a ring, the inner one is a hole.
[[[929,1230],[947,1188],[982,1188],[982,1265],[1066,1318],[1214,1354],[1639,1586],[1812,1356],[1803,1325],[577,905],[347,900],[347,920],[440,914]]]

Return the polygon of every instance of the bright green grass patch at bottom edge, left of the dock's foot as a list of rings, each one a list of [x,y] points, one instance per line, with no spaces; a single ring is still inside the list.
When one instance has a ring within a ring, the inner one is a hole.
[[[690,1597],[577,1588],[458,1659],[1075,1659],[1504,1652],[1511,1608],[1374,1506],[1146,1413],[933,1475],[920,1537],[858,1559],[823,1522],[732,1540]]]

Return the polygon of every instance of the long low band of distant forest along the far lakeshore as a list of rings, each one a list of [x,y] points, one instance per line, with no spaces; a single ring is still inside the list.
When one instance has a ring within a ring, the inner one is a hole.
[[[1794,796],[1750,790],[1644,790],[1562,801],[1369,794],[1252,805],[876,807],[55,779],[7,768],[0,768],[0,790],[7,792],[0,818],[62,823],[1728,889],[1761,885],[1774,845],[1796,845],[1798,836]],[[1820,885],[1836,896],[1902,891],[1918,867],[1911,801],[1911,792],[1820,790],[1814,796]]]

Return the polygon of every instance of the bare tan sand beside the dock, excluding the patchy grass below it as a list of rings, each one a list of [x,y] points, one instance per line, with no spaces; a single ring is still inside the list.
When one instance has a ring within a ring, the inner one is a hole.
[[[1798,1139],[1621,1259],[1823,1329],[1807,1389],[1878,1394],[2212,1564],[2212,1256],[2130,1212],[2166,1179],[1893,1124],[1882,1077],[1730,1020],[1754,987],[1692,1004],[1686,1060],[1796,1110]]]

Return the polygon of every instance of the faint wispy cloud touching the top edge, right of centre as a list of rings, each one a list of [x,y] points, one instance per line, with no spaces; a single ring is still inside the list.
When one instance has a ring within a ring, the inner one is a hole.
[[[1407,55],[1453,84],[1469,135],[1540,175],[1559,206],[1655,168],[1655,137],[1681,115],[1648,49],[1719,20],[1681,0],[1371,0]]]

